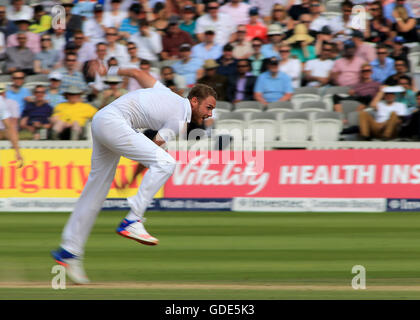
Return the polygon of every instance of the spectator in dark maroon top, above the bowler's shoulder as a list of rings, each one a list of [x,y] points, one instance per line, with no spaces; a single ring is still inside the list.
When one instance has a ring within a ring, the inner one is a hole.
[[[179,46],[183,43],[193,45],[193,39],[188,32],[179,28],[178,18],[173,17],[169,19],[168,30],[162,37],[162,59],[179,60]]]

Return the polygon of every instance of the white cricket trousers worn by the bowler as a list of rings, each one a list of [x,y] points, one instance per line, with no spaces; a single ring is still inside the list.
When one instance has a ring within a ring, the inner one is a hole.
[[[91,171],[64,227],[61,243],[61,247],[78,256],[84,254],[85,244],[111,187],[120,156],[148,168],[137,194],[127,199],[139,219],[172,175],[176,164],[169,153],[144,134],[134,131],[115,107],[106,107],[95,114],[92,140]]]

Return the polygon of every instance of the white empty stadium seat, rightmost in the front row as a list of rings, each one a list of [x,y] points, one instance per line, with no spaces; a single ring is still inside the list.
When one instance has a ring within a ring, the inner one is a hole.
[[[343,127],[341,114],[338,112],[318,112],[314,114],[311,125],[313,141],[337,141]]]

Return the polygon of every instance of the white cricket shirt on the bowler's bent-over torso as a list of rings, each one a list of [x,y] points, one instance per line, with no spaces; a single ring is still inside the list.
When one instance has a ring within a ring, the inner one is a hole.
[[[133,129],[157,130],[168,142],[191,121],[191,104],[156,81],[153,88],[129,92],[106,108],[117,109]]]

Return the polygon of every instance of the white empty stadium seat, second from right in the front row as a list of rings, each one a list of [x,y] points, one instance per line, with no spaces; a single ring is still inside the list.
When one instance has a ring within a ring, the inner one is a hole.
[[[309,137],[309,114],[292,111],[283,114],[280,122],[280,140],[301,142]]]

